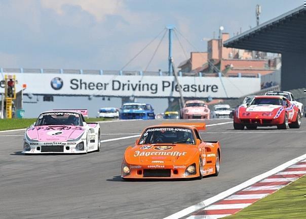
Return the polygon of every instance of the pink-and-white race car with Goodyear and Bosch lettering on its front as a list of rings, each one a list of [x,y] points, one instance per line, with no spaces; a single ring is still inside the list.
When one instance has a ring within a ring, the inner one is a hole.
[[[100,150],[100,126],[86,122],[83,110],[43,112],[25,130],[24,154],[87,153]]]

